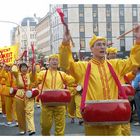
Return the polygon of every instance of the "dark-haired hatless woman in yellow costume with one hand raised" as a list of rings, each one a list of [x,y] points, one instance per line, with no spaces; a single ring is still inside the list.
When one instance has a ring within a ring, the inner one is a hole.
[[[35,134],[34,124],[34,98],[28,98],[26,91],[33,88],[34,75],[28,72],[26,63],[21,63],[19,69],[17,66],[12,67],[17,82],[17,92],[15,95],[16,112],[18,119],[19,134],[24,135],[26,130],[29,135]],[[27,128],[26,128],[27,123]]]

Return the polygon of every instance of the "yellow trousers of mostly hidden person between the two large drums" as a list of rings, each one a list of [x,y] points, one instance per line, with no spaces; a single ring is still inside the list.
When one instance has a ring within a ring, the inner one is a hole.
[[[71,98],[71,102],[68,104],[68,116],[71,118],[82,118],[81,112],[80,112],[80,104],[81,104],[81,95],[75,94]]]

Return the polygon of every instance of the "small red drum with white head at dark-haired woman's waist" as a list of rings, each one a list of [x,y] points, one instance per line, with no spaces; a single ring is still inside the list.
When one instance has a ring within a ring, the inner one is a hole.
[[[32,90],[27,90],[25,94],[27,98],[34,98],[37,95],[39,95],[39,90],[36,88],[33,88]]]

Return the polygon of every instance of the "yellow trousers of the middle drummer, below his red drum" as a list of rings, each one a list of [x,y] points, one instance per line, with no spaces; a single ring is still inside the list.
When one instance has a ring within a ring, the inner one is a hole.
[[[65,131],[65,106],[47,107],[42,105],[41,108],[41,133],[44,136],[50,135],[50,130],[55,122],[55,135],[64,135]]]

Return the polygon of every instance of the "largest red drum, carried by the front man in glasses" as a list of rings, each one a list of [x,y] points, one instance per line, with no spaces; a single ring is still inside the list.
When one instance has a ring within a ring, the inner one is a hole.
[[[82,116],[89,125],[123,124],[130,121],[131,107],[128,100],[91,100],[86,102]]]

